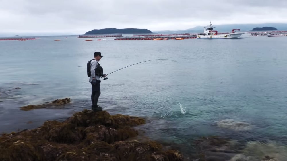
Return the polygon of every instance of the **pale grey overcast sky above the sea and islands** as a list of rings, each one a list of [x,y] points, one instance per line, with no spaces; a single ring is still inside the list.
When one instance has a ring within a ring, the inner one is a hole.
[[[286,14],[287,0],[0,0],[0,33],[184,30],[210,20],[213,25],[287,23]]]

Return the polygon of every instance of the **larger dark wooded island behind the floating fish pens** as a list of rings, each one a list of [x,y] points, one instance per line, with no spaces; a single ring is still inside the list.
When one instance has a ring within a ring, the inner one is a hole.
[[[143,33],[152,33],[152,31],[148,29],[136,29],[136,28],[125,28],[125,29],[105,28],[105,29],[94,29],[92,31],[86,32],[86,34],[143,34]]]

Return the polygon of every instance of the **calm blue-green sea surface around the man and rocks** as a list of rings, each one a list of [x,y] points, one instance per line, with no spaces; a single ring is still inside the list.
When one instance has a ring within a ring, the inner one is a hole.
[[[282,158],[287,154],[287,37],[84,40],[0,41],[0,133],[63,121],[90,109],[86,63],[100,51],[106,74],[145,60],[177,61],[137,64],[101,82],[99,105],[111,114],[146,118],[141,128],[153,140],[187,153],[191,140],[201,136],[266,140],[276,145],[275,151],[285,148]],[[71,104],[19,109],[63,98],[71,98]]]

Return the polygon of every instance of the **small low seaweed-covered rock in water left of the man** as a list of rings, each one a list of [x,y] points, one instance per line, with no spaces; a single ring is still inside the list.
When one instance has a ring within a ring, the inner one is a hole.
[[[70,103],[70,102],[71,102],[70,98],[56,99],[56,100],[52,101],[51,103],[45,102],[42,105],[28,105],[28,106],[20,107],[20,109],[24,110],[24,111],[29,111],[29,110],[32,110],[32,109],[41,109],[41,108],[46,108],[46,107],[65,105],[65,104]]]

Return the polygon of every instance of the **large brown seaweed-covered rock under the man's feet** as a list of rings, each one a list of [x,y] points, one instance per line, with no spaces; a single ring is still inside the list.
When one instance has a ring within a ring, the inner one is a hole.
[[[83,110],[64,122],[46,121],[36,129],[3,134],[0,160],[183,160],[181,152],[164,151],[155,141],[126,141],[138,134],[133,126],[144,123],[139,117]]]

